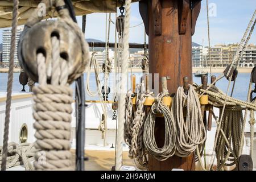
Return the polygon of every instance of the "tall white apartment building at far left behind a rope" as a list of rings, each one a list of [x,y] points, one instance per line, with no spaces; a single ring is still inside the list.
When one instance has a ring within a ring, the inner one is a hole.
[[[14,63],[18,63],[17,47],[19,42],[20,34],[23,31],[23,27],[18,27],[16,33],[16,48],[14,54]],[[11,29],[3,30],[3,52],[2,52],[2,63],[9,63],[10,60],[10,49],[11,49]]]

